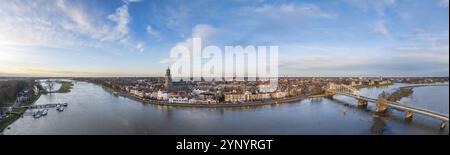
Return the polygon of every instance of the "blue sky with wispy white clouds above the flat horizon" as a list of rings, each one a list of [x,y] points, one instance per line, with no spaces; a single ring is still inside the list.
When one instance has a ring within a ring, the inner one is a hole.
[[[163,76],[193,37],[279,46],[280,76],[449,75],[449,0],[2,0],[0,76]]]

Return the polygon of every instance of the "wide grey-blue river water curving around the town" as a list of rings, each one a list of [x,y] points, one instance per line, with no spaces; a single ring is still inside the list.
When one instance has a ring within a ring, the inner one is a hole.
[[[389,110],[379,116],[373,104],[355,107],[351,98],[307,99],[297,103],[256,107],[192,108],[142,104],[115,96],[101,86],[74,82],[70,93],[42,95],[35,104],[68,102],[63,112],[50,109],[35,119],[31,111],[2,134],[449,134],[440,121]],[[362,95],[377,97],[403,84],[364,88]],[[416,87],[400,102],[448,115],[449,87]]]

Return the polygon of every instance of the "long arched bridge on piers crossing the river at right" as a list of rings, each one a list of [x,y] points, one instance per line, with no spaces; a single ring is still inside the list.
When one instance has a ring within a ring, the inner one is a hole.
[[[334,95],[343,95],[347,97],[354,98],[358,100],[358,107],[366,107],[369,102],[375,103],[376,105],[376,112],[378,113],[384,113],[387,111],[388,108],[394,108],[401,111],[406,111],[406,119],[412,120],[413,113],[421,114],[424,116],[429,116],[435,119],[438,119],[441,121],[440,128],[443,129],[446,127],[446,124],[448,123],[448,115],[434,112],[431,110],[413,107],[397,102],[388,101],[383,96],[379,96],[378,99],[370,98],[366,96],[362,96],[359,94],[359,91],[356,88],[353,88],[349,85],[337,85],[337,84],[329,84],[326,91],[325,96],[332,98]]]

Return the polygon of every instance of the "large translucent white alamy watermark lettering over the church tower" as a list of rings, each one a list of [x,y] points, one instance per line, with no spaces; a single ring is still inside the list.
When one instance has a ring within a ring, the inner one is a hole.
[[[278,87],[278,46],[217,46],[202,49],[201,38],[193,38],[192,46],[177,45],[170,51],[174,80],[193,81],[267,81],[260,92],[273,92]]]

